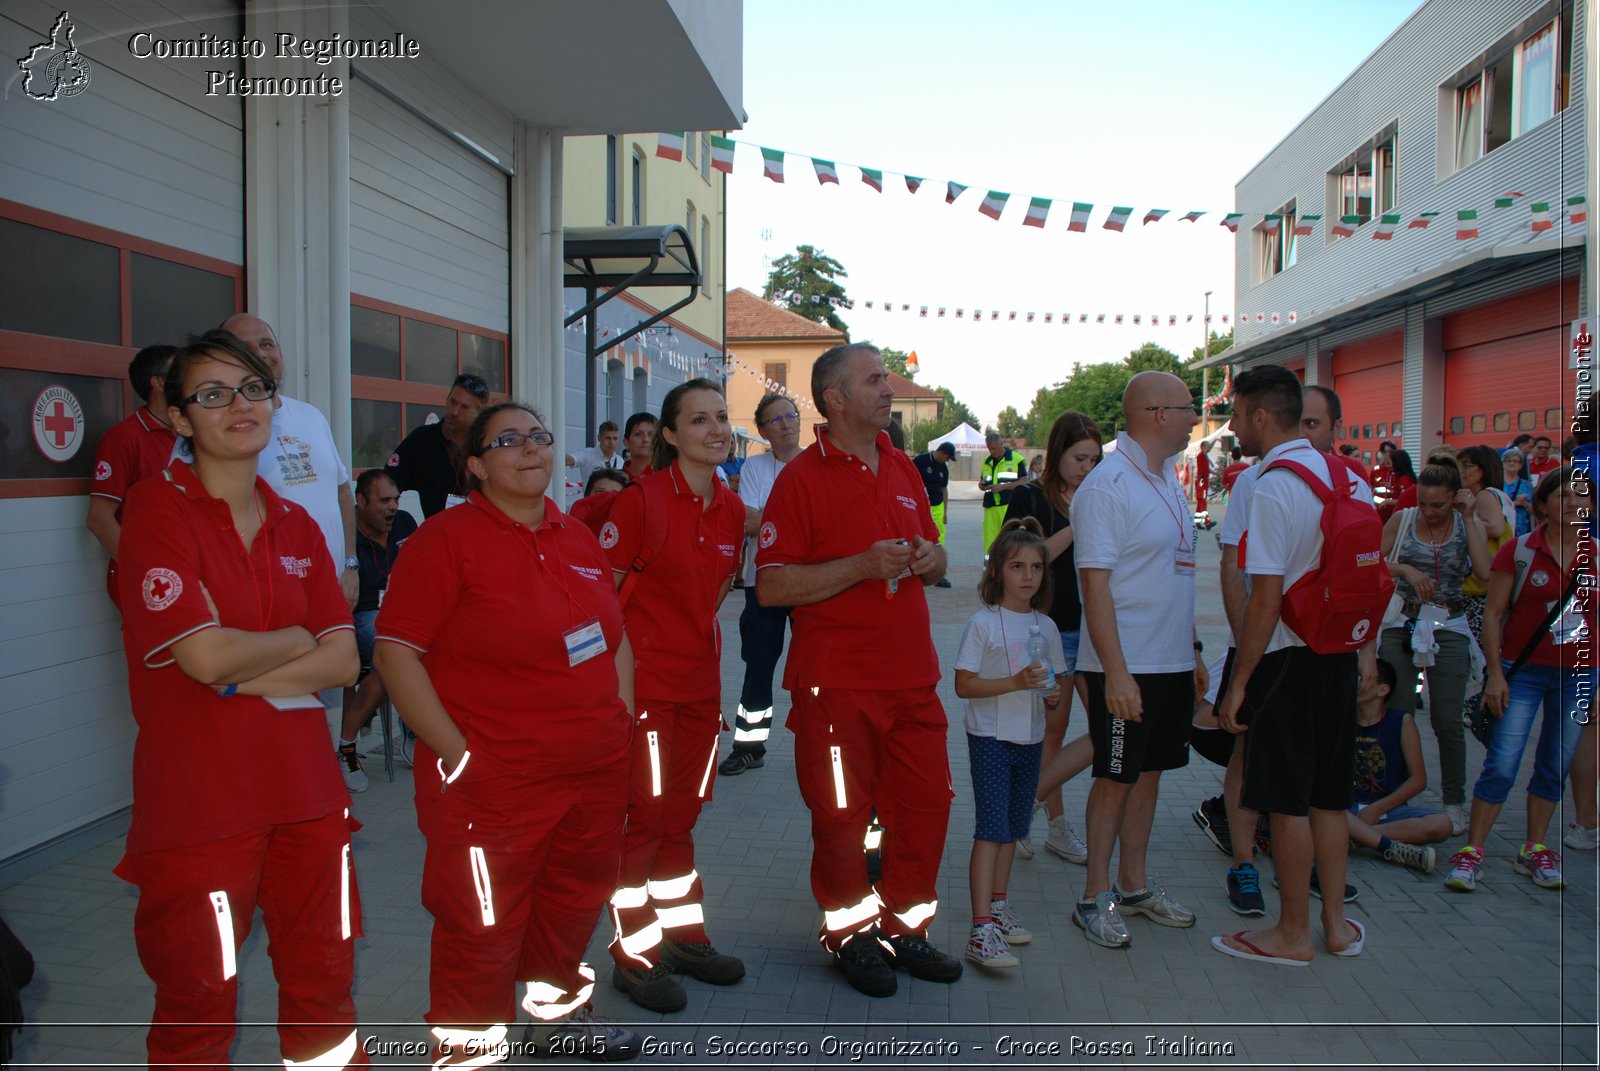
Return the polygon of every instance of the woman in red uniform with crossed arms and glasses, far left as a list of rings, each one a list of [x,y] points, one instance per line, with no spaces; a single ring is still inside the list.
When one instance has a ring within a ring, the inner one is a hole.
[[[315,522],[256,477],[277,391],[261,359],[211,333],[174,354],[165,391],[194,463],[128,491],[118,548],[139,738],[117,874],[139,887],[149,1063],[227,1066],[259,905],[285,1065],[365,1066],[350,796],[310,695],[355,682],[349,604]],[[216,760],[230,752],[250,759]]]

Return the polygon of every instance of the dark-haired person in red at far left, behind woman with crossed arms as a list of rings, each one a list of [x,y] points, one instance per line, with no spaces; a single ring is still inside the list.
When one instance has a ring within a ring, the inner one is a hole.
[[[166,368],[176,346],[146,346],[128,363],[128,381],[142,405],[106,429],[94,448],[90,515],[83,525],[106,549],[106,591],[117,602],[117,549],[122,543],[122,499],[128,488],[166,467],[178,442],[166,423]]]

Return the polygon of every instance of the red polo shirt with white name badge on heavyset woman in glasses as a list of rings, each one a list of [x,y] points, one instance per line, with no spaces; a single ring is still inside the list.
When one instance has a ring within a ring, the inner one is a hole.
[[[590,621],[606,653],[571,666],[563,637]],[[549,498],[538,528],[478,491],[429,517],[389,575],[378,642],[421,652],[472,752],[442,792],[435,756],[418,741],[418,824],[429,837],[517,847],[536,816],[520,789],[626,760],[634,720],[618,698],[611,570],[594,533]]]

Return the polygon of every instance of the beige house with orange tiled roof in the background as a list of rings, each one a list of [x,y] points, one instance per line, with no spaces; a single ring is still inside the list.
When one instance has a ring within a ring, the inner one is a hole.
[[[800,407],[800,445],[816,440],[826,423],[811,402],[811,365],[845,336],[779,307],[742,287],[728,291],[728,418],[749,435],[755,429],[755,405],[766,384],[789,391]]]

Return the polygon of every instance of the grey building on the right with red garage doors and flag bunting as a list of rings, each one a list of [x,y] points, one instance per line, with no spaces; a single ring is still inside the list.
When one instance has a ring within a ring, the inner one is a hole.
[[[1235,187],[1237,343],[1210,363],[1331,386],[1368,458],[1558,443],[1592,314],[1587,202],[1568,205],[1594,155],[1589,3],[1432,0],[1288,131]]]

